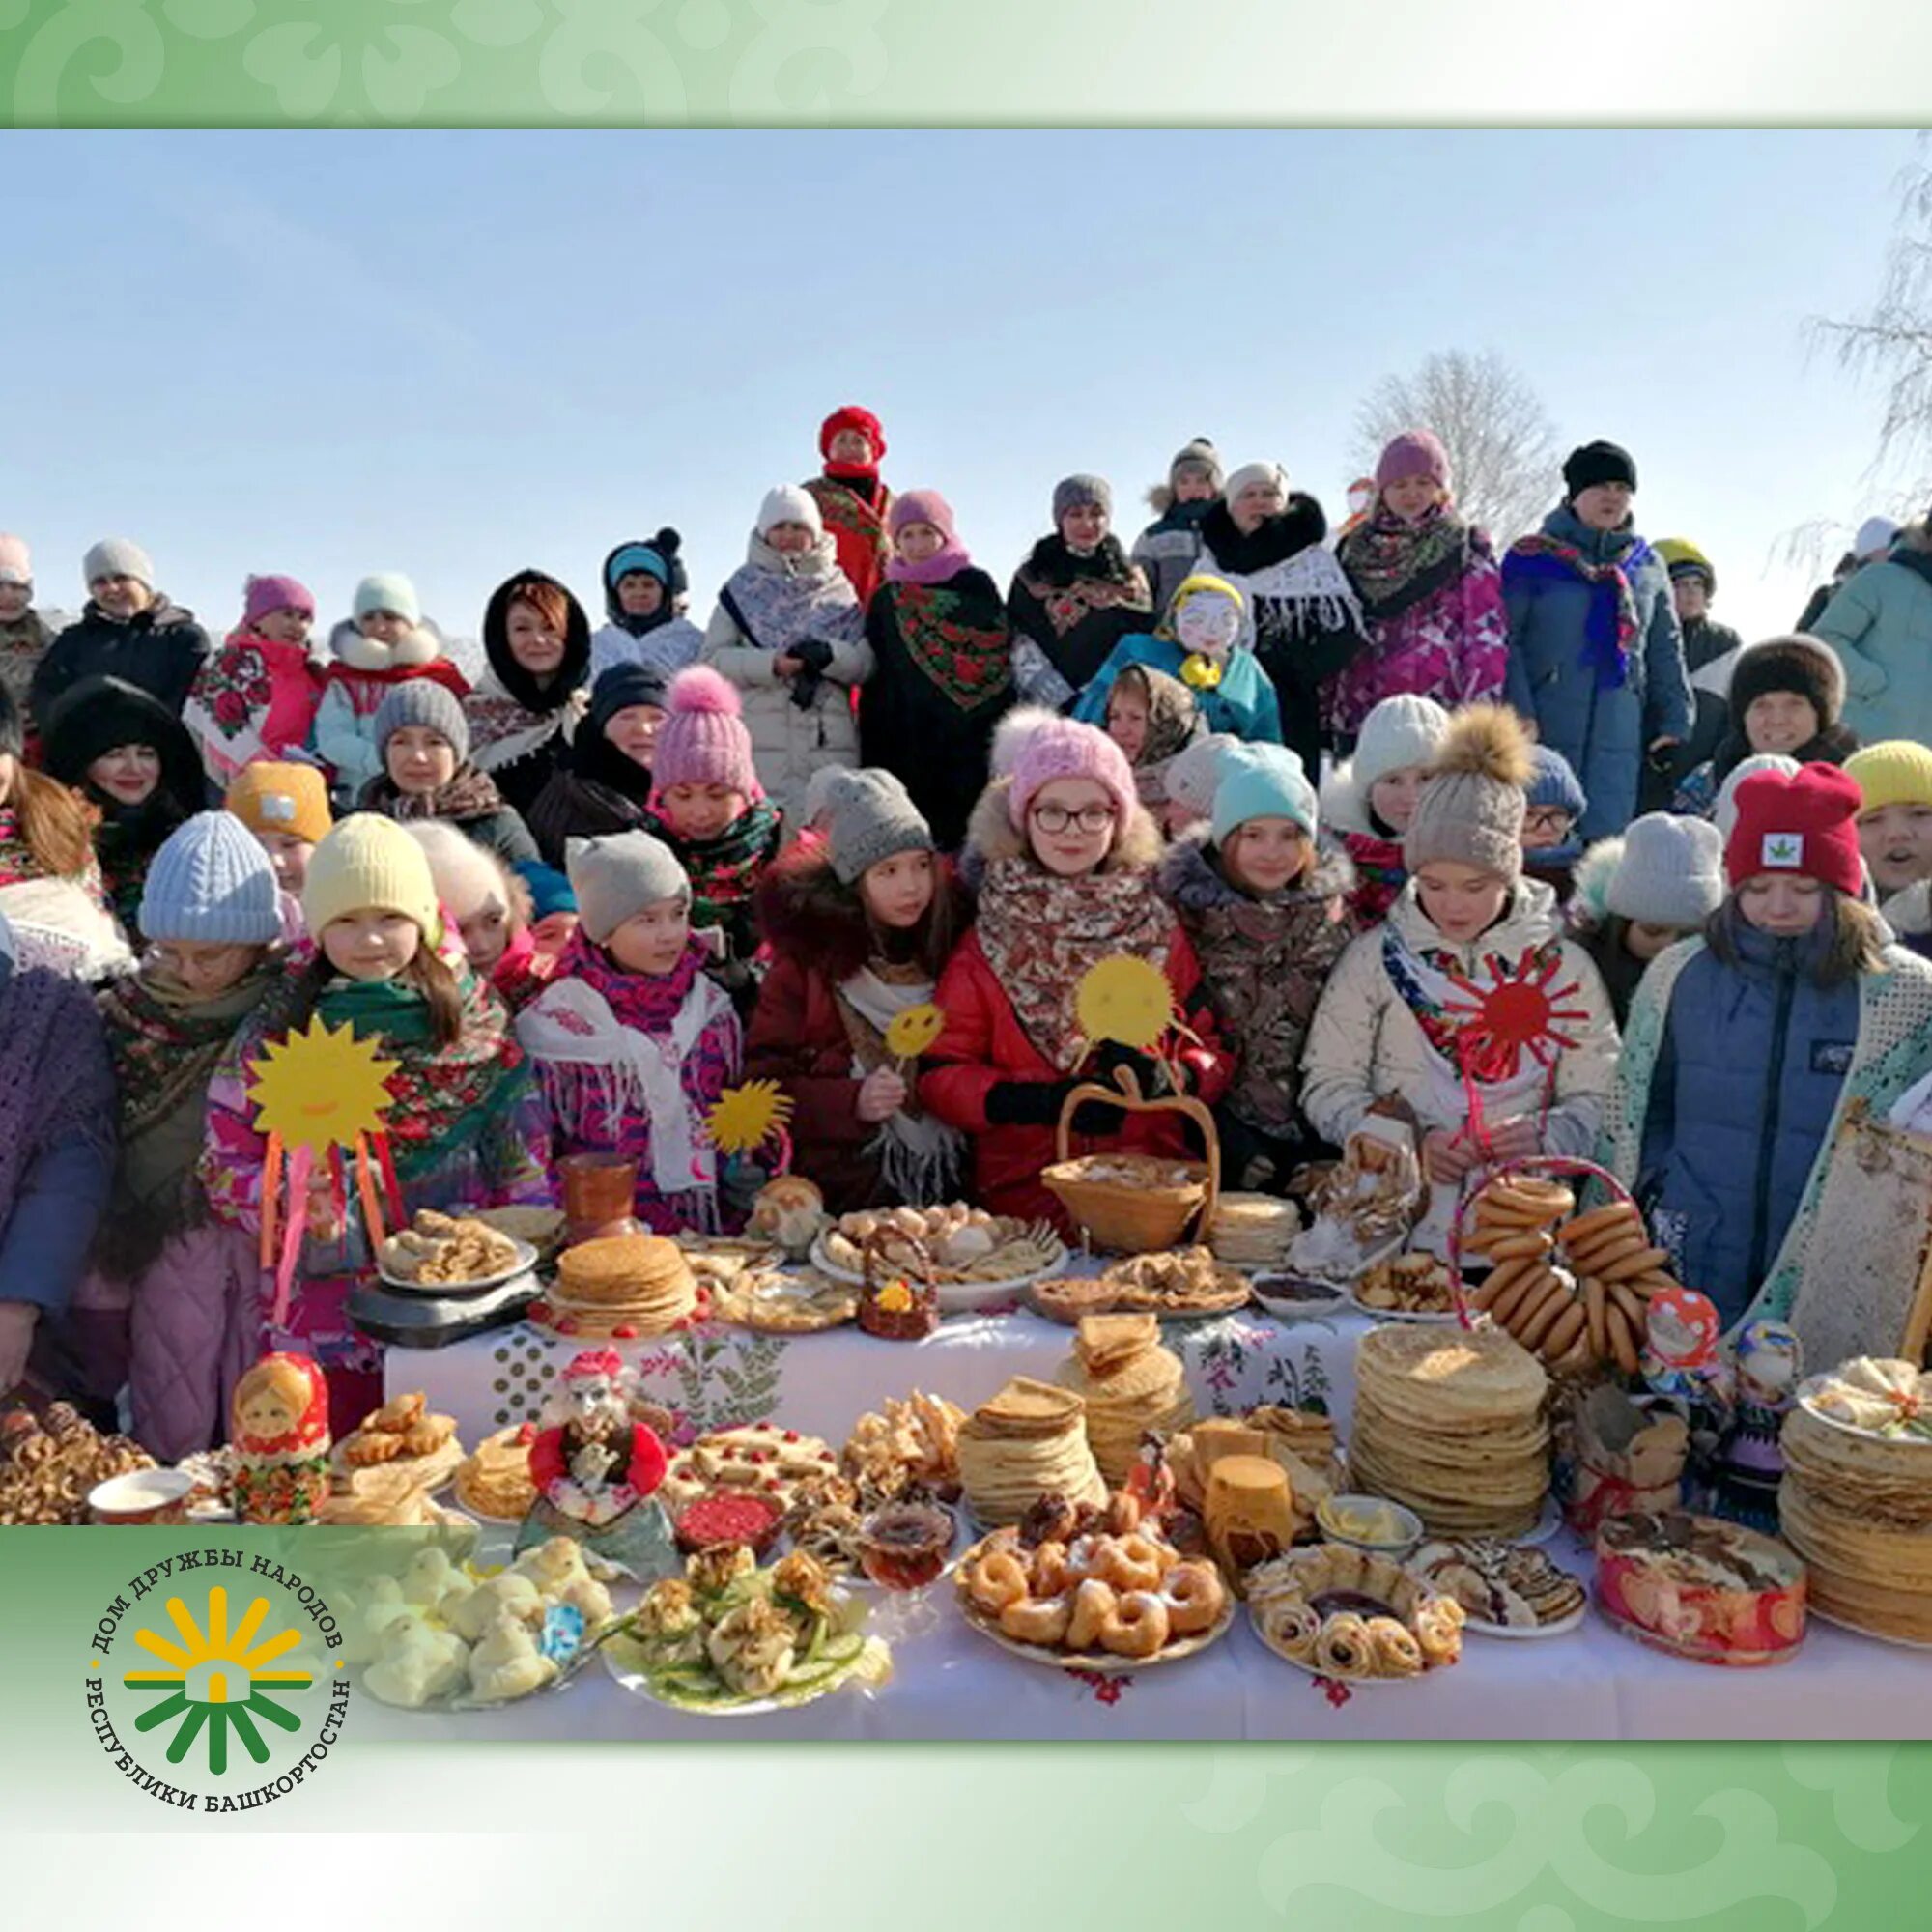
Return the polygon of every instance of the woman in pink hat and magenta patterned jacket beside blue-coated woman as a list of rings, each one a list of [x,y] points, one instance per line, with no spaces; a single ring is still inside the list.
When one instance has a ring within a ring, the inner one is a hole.
[[[1362,599],[1368,645],[1335,680],[1329,723],[1352,744],[1383,697],[1447,709],[1495,697],[1509,663],[1503,578],[1486,531],[1457,514],[1449,452],[1428,429],[1395,437],[1376,466],[1376,504],[1337,545]]]

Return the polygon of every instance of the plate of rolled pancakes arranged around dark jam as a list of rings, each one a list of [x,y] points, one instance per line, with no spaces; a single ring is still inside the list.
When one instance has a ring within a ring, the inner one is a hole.
[[[1345,1683],[1420,1677],[1463,1656],[1463,1605],[1393,1557],[1320,1544],[1248,1571],[1254,1634],[1289,1663]]]

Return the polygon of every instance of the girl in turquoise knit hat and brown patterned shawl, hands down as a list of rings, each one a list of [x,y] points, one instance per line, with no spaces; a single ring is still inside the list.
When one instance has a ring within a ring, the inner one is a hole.
[[[1242,746],[1221,767],[1213,821],[1169,846],[1161,893],[1200,958],[1235,1055],[1215,1109],[1235,1184],[1279,1190],[1308,1153],[1296,1095],[1321,987],[1356,933],[1354,871],[1318,842],[1316,792],[1283,746]]]

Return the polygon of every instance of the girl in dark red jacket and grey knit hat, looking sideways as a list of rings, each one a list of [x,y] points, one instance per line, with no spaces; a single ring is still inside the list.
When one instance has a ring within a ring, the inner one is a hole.
[[[746,1076],[792,1095],[798,1171],[833,1213],[958,1198],[962,1136],[922,1113],[918,1066],[885,1047],[893,1016],[933,997],[966,929],[966,893],[889,771],[827,767],[825,835],[798,840],[759,881],[773,951]]]

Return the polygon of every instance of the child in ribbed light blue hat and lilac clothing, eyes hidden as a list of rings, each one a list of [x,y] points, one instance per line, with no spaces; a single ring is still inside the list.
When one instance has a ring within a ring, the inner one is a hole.
[[[255,1360],[255,1246],[209,1219],[195,1165],[214,1066],[282,978],[269,854],[226,811],[187,819],[149,867],[141,931],[141,970],[99,997],[120,1157],[77,1304],[110,1341],[100,1393],[126,1378],[135,1437],[178,1463],[222,1439]]]

